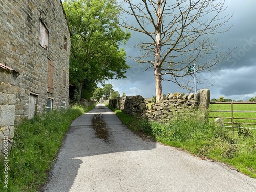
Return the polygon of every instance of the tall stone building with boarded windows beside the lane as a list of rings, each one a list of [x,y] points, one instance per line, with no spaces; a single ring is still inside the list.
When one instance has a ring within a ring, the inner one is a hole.
[[[66,108],[69,55],[61,0],[0,1],[0,151],[15,123]]]

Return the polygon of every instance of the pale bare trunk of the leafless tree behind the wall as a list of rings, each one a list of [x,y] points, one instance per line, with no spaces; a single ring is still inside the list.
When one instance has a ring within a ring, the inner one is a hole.
[[[157,9],[157,24],[155,28],[155,67],[154,67],[154,75],[155,75],[155,83],[156,83],[156,103],[159,103],[162,95],[162,77],[161,77],[161,28],[162,28],[162,2],[158,0],[158,9]]]

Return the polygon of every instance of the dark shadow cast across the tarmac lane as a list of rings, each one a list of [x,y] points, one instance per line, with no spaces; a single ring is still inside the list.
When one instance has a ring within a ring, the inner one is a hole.
[[[102,104],[97,105],[92,111],[72,122],[58,154],[58,160],[49,174],[49,182],[42,186],[40,191],[70,191],[81,164],[87,163],[84,162],[86,157],[152,150],[155,147],[155,142],[143,140],[127,129],[109,108]],[[104,161],[104,157],[100,158],[103,159],[99,161]]]

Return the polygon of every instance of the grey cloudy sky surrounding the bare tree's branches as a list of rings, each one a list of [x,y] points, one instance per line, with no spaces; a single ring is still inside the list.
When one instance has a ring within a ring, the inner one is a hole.
[[[198,74],[201,77],[211,77],[206,83],[214,83],[211,87],[198,85],[198,89],[210,89],[211,99],[224,96],[226,99],[248,100],[256,96],[256,1],[255,0],[226,0],[227,14],[234,14],[228,26],[232,28],[221,36],[220,44],[224,49],[234,49],[229,61],[222,63],[218,69],[212,72]],[[143,39],[143,34],[132,33],[125,50],[128,55],[138,56],[139,50],[134,47],[138,39]],[[126,79],[109,80],[113,89],[122,95],[142,95],[151,98],[155,95],[155,80],[153,69],[141,66],[127,59],[131,68],[127,71]],[[183,92],[187,90],[179,88],[176,84],[163,81],[163,93]]]

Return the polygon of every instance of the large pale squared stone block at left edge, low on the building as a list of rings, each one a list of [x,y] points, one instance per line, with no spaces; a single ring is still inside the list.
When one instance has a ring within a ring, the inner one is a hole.
[[[1,105],[0,106],[0,126],[14,125],[15,106]]]

